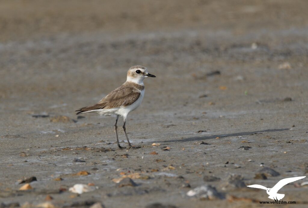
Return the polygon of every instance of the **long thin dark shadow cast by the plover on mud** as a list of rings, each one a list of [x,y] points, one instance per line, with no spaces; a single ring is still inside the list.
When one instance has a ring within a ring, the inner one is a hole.
[[[266,129],[266,130],[259,130],[259,131],[245,131],[245,132],[238,132],[232,134],[216,134],[211,136],[203,136],[203,137],[190,137],[190,138],[183,138],[183,139],[174,139],[168,141],[158,141],[158,142],[193,142],[193,141],[201,141],[206,139],[214,139],[214,138],[224,138],[224,137],[236,137],[236,136],[243,136],[249,134],[262,134],[263,132],[274,132],[274,131],[286,131],[289,129]]]

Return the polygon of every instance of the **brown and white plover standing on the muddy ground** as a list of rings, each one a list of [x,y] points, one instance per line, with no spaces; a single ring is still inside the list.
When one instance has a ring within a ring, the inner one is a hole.
[[[115,135],[118,147],[122,149],[120,146],[119,138],[118,138],[118,118],[119,116],[123,116],[124,125],[123,130],[128,142],[128,147],[132,148],[131,143],[128,140],[128,136],[126,133],[125,123],[127,115],[135,110],[138,106],[140,106],[142,99],[144,97],[144,83],[143,80],[146,77],[156,77],[152,74],[148,73],[146,67],[143,66],[132,66],[129,68],[127,72],[127,79],[124,84],[120,87],[113,90],[111,93],[107,94],[106,97],[101,99],[98,103],[93,106],[87,106],[80,108],[77,114],[82,113],[98,113],[99,115],[110,116],[116,115],[115,120]]]

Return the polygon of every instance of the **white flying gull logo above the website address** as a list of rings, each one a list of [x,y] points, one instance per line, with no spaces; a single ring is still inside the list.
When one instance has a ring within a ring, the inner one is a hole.
[[[297,181],[297,180],[300,180],[300,179],[303,179],[303,178],[306,178],[306,176],[282,179],[278,183],[276,183],[276,185],[273,188],[271,188],[271,189],[270,188],[266,188],[265,186],[258,185],[258,184],[253,184],[253,185],[250,185],[248,187],[250,187],[250,188],[257,188],[257,189],[264,189],[264,190],[266,190],[266,193],[268,195],[270,195],[269,196],[270,199],[273,199],[275,201],[280,201],[282,198],[285,197],[285,194],[278,194],[277,192],[283,186],[287,185],[288,183],[291,183],[291,182],[294,182],[294,181]]]

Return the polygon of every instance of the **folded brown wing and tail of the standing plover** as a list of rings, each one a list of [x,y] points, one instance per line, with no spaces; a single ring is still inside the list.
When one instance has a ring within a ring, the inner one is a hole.
[[[99,109],[111,109],[120,106],[132,105],[140,97],[140,92],[132,86],[122,85],[111,93],[107,94],[106,97],[101,99],[98,103],[93,106],[87,106],[80,108],[77,114],[84,113],[89,110],[99,110]]]

